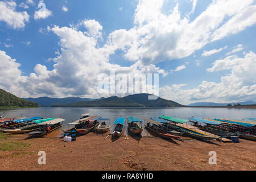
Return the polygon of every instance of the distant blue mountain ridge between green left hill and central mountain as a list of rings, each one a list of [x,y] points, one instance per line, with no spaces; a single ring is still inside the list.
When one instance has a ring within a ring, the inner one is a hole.
[[[51,97],[38,97],[38,98],[24,98],[24,100],[37,102],[40,106],[51,106],[58,104],[72,104],[81,101],[93,101],[92,98],[80,97],[65,97],[65,98],[51,98]]]

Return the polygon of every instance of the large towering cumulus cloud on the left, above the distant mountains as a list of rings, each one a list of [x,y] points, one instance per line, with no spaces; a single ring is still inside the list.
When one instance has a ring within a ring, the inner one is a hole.
[[[61,47],[57,57],[52,59],[55,63],[53,69],[49,70],[45,65],[37,64],[34,73],[31,73],[30,76],[16,74],[17,81],[13,83],[15,87],[0,83],[1,88],[20,97],[46,95],[52,97],[101,97],[110,96],[109,93],[95,92],[98,84],[100,84],[98,75],[101,73],[109,75],[110,71],[115,71],[116,74],[123,73],[125,75],[140,76],[142,73],[166,75],[162,69],[155,67],[155,65],[144,66],[139,61],[130,67],[110,64],[109,56],[114,53],[115,48],[109,44],[97,48],[97,41],[100,38],[93,38],[84,34],[84,32],[69,27],[55,26],[49,28],[49,30],[59,36]],[[10,57],[7,60],[12,61]],[[0,61],[2,62],[1,59]],[[19,64],[16,64],[15,69],[18,69],[18,67]],[[11,72],[11,70],[10,67],[9,71]],[[5,77],[7,80],[9,79],[9,75]],[[147,83],[144,82],[144,84]],[[16,89],[17,87],[23,88],[22,92],[18,93],[20,89]],[[122,94],[119,94],[119,96],[122,96]]]

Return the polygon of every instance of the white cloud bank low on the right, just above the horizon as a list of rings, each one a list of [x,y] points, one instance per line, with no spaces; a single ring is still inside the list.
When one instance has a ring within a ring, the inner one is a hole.
[[[230,70],[230,74],[221,77],[221,81],[203,81],[194,89],[160,88],[160,96],[182,104],[191,102],[238,102],[256,100],[256,54],[247,52],[244,57],[228,56],[216,60],[208,72]]]

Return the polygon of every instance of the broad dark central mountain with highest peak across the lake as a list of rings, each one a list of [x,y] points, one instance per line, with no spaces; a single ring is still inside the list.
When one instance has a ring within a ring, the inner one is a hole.
[[[84,106],[84,107],[179,107],[183,106],[174,101],[168,101],[158,97],[156,100],[148,100],[150,94],[134,94],[126,97],[108,97],[101,100],[82,101],[74,104],[53,106]]]

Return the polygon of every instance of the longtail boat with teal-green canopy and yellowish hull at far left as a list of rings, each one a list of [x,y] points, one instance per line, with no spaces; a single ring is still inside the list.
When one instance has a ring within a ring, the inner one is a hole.
[[[19,125],[20,127],[13,127],[13,129],[3,129],[2,131],[10,134],[24,134],[30,133],[32,131],[36,131],[42,127],[39,123],[51,121],[55,118],[46,118],[46,119],[38,119],[35,121],[31,121],[28,123],[24,123],[23,125]]]

